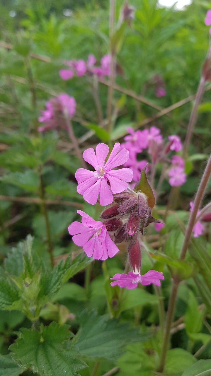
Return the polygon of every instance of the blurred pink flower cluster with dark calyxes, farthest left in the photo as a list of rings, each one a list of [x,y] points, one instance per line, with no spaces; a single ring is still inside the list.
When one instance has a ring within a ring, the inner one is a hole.
[[[74,97],[68,94],[60,94],[45,103],[46,110],[41,111],[41,116],[38,118],[40,123],[45,123],[44,126],[38,127],[39,132],[50,128],[56,128],[58,125],[65,127],[63,121],[64,116],[73,117],[75,114],[76,102]]]

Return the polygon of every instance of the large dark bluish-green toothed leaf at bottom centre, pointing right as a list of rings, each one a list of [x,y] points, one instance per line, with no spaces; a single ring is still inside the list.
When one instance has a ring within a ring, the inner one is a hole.
[[[96,312],[84,311],[79,317],[81,324],[77,347],[88,358],[114,360],[122,355],[128,343],[143,342],[150,332],[139,333],[137,328],[129,328],[128,323],[109,319],[108,315],[97,316]]]

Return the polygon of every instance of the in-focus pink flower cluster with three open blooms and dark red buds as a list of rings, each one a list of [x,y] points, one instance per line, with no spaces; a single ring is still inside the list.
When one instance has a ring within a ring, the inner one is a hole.
[[[155,198],[143,169],[144,187],[147,193],[142,191],[139,185],[134,190],[128,187],[128,182],[133,178],[133,171],[128,168],[114,168],[127,163],[129,153],[127,149],[120,148],[115,143],[109,158],[109,147],[105,144],[96,146],[95,151],[90,148],[85,150],[83,158],[95,169],[94,171],[79,168],[75,177],[78,181],[78,193],[83,194],[84,200],[94,205],[98,201],[105,208],[99,221],[90,215],[78,210],[81,215],[81,223],[75,221],[70,224],[68,231],[72,235],[75,244],[83,247],[88,257],[97,260],[105,260],[119,252],[116,244],[126,241],[128,243],[128,256],[132,271],[128,274],[115,274],[111,285],[119,285],[129,289],[142,285],[160,285],[160,279],[164,279],[163,273],[149,270],[143,276],[141,267],[141,234],[151,222],[161,223],[152,217],[152,208]]]

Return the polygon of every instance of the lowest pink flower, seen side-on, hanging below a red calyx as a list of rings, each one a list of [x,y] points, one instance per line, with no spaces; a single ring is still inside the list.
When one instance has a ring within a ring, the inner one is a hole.
[[[128,274],[115,274],[112,280],[116,279],[114,282],[111,282],[112,286],[118,285],[119,287],[126,287],[129,289],[136,288],[138,283],[142,285],[150,285],[151,283],[160,286],[160,279],[164,279],[163,273],[157,270],[149,270],[143,276],[138,273],[135,274],[133,271],[129,271]]]

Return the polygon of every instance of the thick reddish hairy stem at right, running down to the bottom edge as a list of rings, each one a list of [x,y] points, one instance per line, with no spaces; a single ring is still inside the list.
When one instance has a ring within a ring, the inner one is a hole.
[[[197,211],[200,207],[200,203],[203,197],[203,194],[205,193],[206,185],[208,183],[209,177],[211,174],[211,155],[209,157],[209,160],[207,162],[205,171],[203,173],[201,182],[199,184],[199,188],[196,193],[196,197],[194,200],[193,204],[193,211],[190,214],[190,218],[188,221],[187,229],[185,231],[185,238],[184,238],[184,243],[182,245],[181,253],[179,260],[184,260],[188,244],[191,238],[191,233],[193,230],[194,223],[196,221],[196,216],[197,216]],[[158,372],[163,372],[164,370],[164,365],[166,361],[166,353],[169,347],[169,341],[170,341],[170,329],[173,321],[173,314],[175,310],[175,303],[176,303],[176,297],[177,297],[177,291],[178,291],[178,286],[179,286],[179,279],[178,277],[174,276],[173,277],[173,283],[172,283],[172,291],[170,294],[170,299],[169,299],[169,306],[168,306],[168,311],[167,311],[167,317],[166,317],[166,330],[165,330],[165,335],[164,335],[164,340],[163,340],[163,348],[161,352],[161,359],[160,359],[160,365],[158,367]]]

